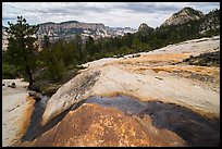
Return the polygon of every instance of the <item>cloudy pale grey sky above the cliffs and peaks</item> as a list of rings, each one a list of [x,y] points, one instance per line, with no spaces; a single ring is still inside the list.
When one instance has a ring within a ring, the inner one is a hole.
[[[2,25],[22,15],[30,25],[78,21],[137,29],[141,23],[158,27],[185,7],[206,14],[220,9],[220,2],[2,2]]]

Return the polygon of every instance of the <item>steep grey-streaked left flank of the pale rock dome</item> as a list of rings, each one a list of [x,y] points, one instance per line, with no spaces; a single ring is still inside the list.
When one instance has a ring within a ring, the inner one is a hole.
[[[51,119],[69,109],[74,103],[86,99],[90,95],[89,88],[96,82],[95,79],[99,75],[98,73],[97,70],[85,71],[60,87],[47,103],[41,125],[47,124]]]

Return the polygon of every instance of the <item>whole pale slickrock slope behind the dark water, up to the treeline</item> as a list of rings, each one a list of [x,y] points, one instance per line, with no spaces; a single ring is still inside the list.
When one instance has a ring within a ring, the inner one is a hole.
[[[220,113],[220,69],[174,65],[192,54],[215,51],[215,49],[220,50],[220,37],[195,39],[177,46],[168,46],[153,52],[141,53],[139,58],[120,59],[119,61],[110,59],[110,61],[104,61],[103,65],[97,62],[88,63],[87,70],[63,85],[50,99],[42,116],[42,125],[76,102],[76,88],[84,92],[77,96],[77,101],[94,95],[123,94],[143,101],[160,100],[176,103],[200,114],[218,117]],[[95,77],[94,72],[100,72],[96,84],[89,89],[81,88],[89,79],[86,76]],[[202,83],[198,79],[200,77],[209,77],[211,82]],[[76,87],[78,85],[79,87]]]

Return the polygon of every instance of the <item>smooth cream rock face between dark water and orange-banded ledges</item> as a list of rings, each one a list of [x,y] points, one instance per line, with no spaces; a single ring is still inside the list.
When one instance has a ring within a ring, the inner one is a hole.
[[[220,95],[194,85],[188,78],[173,77],[165,73],[156,74],[152,71],[138,74],[113,65],[104,67],[101,72],[100,79],[92,88],[92,95],[124,94],[143,101],[160,100],[220,116]]]

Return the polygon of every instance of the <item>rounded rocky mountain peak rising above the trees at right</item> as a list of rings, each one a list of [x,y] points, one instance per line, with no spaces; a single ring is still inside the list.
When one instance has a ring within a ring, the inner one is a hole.
[[[189,21],[199,20],[203,15],[205,14],[201,11],[194,10],[193,8],[186,7],[186,8],[183,8],[181,11],[174,13],[161,26],[184,24]]]

